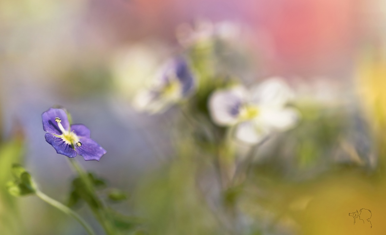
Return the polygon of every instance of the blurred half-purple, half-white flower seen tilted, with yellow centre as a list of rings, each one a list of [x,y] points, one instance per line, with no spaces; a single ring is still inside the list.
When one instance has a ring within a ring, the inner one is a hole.
[[[188,97],[196,88],[196,79],[182,57],[164,67],[153,84],[137,94],[134,107],[149,113],[162,112],[171,105]]]

